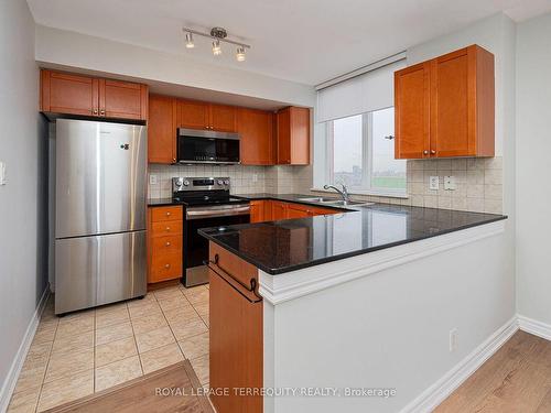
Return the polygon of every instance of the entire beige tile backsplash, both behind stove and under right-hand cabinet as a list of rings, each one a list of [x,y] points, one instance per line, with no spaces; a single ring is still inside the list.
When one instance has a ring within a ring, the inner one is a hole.
[[[149,173],[156,175],[156,184],[149,185],[150,198],[172,196],[173,176],[229,176],[233,194],[251,193],[313,193],[312,166],[220,166],[220,165],[158,165]],[[386,204],[424,206],[430,208],[503,213],[503,157],[453,160],[411,160],[407,163],[408,198],[371,195],[352,195]],[[437,191],[429,188],[429,177],[439,176]],[[444,176],[454,176],[456,188],[445,191]],[[317,193],[320,194],[320,193]]]

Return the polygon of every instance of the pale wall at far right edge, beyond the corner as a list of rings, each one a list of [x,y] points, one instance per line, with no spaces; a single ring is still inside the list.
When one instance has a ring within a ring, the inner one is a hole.
[[[517,31],[518,312],[551,325],[551,13]]]

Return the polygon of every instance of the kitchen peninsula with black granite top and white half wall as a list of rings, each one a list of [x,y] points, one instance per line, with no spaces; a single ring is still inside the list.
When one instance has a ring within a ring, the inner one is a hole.
[[[345,208],[201,231],[210,241],[210,387],[343,391],[214,396],[219,411],[396,412],[486,335],[487,320],[473,323],[469,308],[491,301],[498,285],[507,217],[386,204]],[[461,346],[450,351],[453,328]],[[236,368],[228,370],[227,360]],[[420,365],[430,367],[422,376]],[[396,395],[347,398],[350,388]]]

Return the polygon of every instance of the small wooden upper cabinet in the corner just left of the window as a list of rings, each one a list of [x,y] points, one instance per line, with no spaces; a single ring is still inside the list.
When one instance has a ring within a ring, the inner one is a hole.
[[[277,113],[278,164],[310,163],[310,109],[289,107]]]

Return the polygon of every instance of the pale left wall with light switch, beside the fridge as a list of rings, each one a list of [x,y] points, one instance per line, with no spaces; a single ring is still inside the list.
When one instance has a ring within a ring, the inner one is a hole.
[[[37,111],[34,21],[24,0],[0,1],[0,398],[47,279],[47,134]],[[3,400],[0,400],[0,403]],[[0,404],[0,410],[2,409]]]

